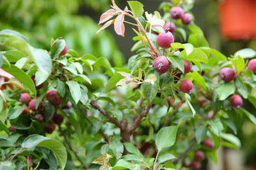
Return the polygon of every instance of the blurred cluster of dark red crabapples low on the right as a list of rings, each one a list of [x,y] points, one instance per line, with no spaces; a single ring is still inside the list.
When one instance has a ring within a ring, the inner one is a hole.
[[[203,159],[206,158],[205,153],[203,152],[204,150],[212,150],[214,147],[214,143],[212,140],[210,139],[206,139],[203,141],[203,149],[197,150],[194,154],[193,154],[193,161],[190,164],[186,164],[185,159],[183,161],[183,167],[186,168],[191,168],[191,169],[200,169],[201,168],[201,162],[203,161]]]

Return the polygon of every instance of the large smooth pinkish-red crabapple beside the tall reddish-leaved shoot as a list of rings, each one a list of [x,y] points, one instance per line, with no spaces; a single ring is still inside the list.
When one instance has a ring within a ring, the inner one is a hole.
[[[171,43],[174,42],[174,35],[172,35],[172,33],[169,31],[161,32],[157,36],[156,42],[159,45],[159,47],[169,48],[171,47]]]

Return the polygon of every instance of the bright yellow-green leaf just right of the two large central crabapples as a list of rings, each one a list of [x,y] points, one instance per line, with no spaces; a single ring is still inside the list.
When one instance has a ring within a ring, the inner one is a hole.
[[[181,52],[184,56],[184,59],[191,61],[191,62],[208,62],[208,57],[206,53],[198,48],[193,48],[193,52],[189,55],[186,55],[185,52]]]

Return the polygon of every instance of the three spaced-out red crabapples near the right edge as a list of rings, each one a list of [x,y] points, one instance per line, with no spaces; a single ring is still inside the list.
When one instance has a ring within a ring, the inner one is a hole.
[[[256,72],[256,59],[252,59],[250,60],[250,62],[248,62],[248,69],[252,70],[252,72],[254,73]],[[220,78],[223,79],[223,81],[225,82],[233,81],[233,79],[235,79],[235,76],[236,76],[235,71],[230,67],[224,67],[223,69],[220,70]],[[234,94],[233,96],[231,96],[230,104],[234,108],[241,108],[242,106],[241,96],[237,94]]]

